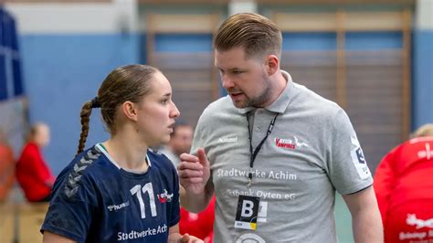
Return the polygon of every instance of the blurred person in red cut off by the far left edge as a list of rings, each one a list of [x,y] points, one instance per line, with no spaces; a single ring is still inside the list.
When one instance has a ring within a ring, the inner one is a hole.
[[[14,185],[14,152],[0,131],[0,202],[5,201],[9,191]]]

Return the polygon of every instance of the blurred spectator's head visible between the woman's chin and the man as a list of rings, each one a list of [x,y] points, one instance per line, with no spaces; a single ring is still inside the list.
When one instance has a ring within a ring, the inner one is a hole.
[[[170,135],[170,142],[159,152],[164,153],[177,166],[180,154],[189,153],[193,142],[194,129],[188,123],[176,122]]]

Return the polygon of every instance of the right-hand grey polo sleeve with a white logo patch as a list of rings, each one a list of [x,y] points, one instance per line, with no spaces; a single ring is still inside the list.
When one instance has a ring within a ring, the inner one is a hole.
[[[327,173],[340,194],[353,194],[372,185],[373,178],[347,114],[340,108],[331,120]]]

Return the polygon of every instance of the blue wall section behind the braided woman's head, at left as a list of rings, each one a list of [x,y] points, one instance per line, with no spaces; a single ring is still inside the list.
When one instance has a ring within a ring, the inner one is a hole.
[[[44,154],[54,174],[69,163],[79,141],[81,105],[118,66],[139,62],[138,35],[25,35],[20,37],[30,122],[47,122],[51,143]],[[94,110],[89,147],[108,138]]]

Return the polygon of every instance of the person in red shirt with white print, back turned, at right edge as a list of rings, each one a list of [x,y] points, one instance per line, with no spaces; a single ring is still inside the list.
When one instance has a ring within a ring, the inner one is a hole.
[[[433,124],[387,153],[375,171],[385,242],[433,242]]]

